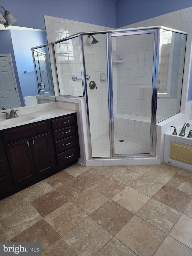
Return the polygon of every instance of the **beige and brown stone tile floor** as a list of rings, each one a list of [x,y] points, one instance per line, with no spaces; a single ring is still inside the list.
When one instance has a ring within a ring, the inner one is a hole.
[[[0,242],[43,256],[192,255],[192,172],[73,166],[0,201]]]

